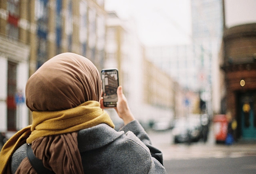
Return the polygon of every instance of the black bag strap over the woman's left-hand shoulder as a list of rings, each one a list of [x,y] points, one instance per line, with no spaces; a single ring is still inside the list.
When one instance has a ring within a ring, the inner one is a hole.
[[[39,174],[54,174],[53,171],[47,169],[44,166],[42,160],[36,158],[36,156],[33,153],[32,148],[31,148],[31,144],[28,144],[28,146],[27,146],[27,156],[28,156],[29,162],[34,167],[34,169],[36,170],[37,173],[39,173]]]

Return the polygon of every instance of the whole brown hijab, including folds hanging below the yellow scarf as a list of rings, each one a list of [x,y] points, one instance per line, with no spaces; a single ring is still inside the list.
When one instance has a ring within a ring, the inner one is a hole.
[[[74,53],[59,54],[44,63],[27,81],[26,104],[31,111],[71,109],[100,101],[101,78],[93,63]],[[37,138],[32,149],[55,173],[83,174],[77,132]],[[16,173],[35,173],[25,158]]]

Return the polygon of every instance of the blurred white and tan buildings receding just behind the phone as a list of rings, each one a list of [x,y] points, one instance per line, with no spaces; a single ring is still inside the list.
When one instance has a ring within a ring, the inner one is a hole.
[[[109,12],[104,68],[119,70],[119,84],[130,109],[146,128],[150,121],[168,123],[174,117],[173,83],[167,73],[147,60],[135,28],[133,20],[124,21]],[[112,117],[115,123],[119,121],[116,118]]]

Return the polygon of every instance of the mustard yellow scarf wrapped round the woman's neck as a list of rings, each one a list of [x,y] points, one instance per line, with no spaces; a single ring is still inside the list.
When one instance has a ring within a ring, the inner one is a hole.
[[[15,150],[24,143],[48,135],[74,132],[105,123],[114,128],[108,113],[97,101],[86,101],[63,111],[33,111],[33,123],[11,137],[0,152],[0,173],[10,172],[10,159]],[[31,129],[31,130],[30,130]]]

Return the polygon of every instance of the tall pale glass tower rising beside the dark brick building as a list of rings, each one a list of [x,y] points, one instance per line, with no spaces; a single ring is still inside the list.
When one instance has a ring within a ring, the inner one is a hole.
[[[193,56],[199,61],[201,94],[208,96],[208,113],[220,113],[218,55],[223,36],[222,0],[191,0]]]

